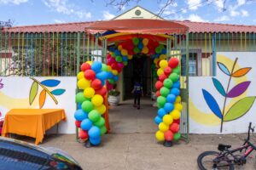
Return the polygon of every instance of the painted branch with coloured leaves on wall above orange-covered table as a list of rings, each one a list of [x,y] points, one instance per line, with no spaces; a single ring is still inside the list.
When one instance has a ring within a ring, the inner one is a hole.
[[[39,108],[42,109],[44,107],[46,94],[49,94],[49,97],[55,101],[55,104],[58,105],[57,99],[55,99],[55,95],[64,94],[66,91],[62,88],[57,88],[55,90],[50,91],[49,88],[54,88],[60,84],[61,81],[55,79],[47,79],[42,82],[39,82],[37,79],[30,77],[33,80],[32,86],[30,88],[29,93],[29,104],[32,105],[33,101],[36,99],[38,95],[38,86],[43,88],[39,94]],[[47,88],[49,87],[49,88]]]

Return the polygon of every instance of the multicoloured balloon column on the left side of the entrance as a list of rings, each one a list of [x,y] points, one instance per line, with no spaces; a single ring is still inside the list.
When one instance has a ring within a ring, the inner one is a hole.
[[[76,127],[79,127],[79,138],[87,140],[90,144],[100,144],[101,136],[107,132],[105,119],[102,114],[106,111],[103,104],[107,89],[104,87],[108,78],[107,65],[101,62],[87,61],[81,65],[77,75],[79,93],[76,102],[79,105],[74,113]]]

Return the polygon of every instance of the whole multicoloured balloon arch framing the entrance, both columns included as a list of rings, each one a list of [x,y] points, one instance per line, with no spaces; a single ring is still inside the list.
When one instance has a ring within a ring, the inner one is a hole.
[[[118,80],[128,60],[136,54],[146,54],[154,59],[157,68],[157,116],[158,125],[155,137],[158,141],[172,142],[181,138],[179,120],[182,111],[180,97],[180,65],[176,57],[166,59],[166,46],[153,38],[132,37],[125,42],[108,47],[107,64],[99,61],[86,61],[77,75],[79,93],[76,94],[78,110],[74,113],[79,139],[92,145],[101,143],[101,136],[107,132],[102,116],[107,108],[108,90]]]

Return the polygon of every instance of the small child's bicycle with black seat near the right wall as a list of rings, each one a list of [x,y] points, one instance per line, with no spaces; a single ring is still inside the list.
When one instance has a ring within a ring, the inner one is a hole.
[[[247,156],[249,156],[253,152],[253,150],[256,150],[256,146],[250,142],[251,131],[253,133],[254,128],[255,127],[252,127],[252,122],[250,122],[248,127],[247,139],[245,139],[245,142],[235,150],[230,150],[231,145],[218,144],[219,152],[205,151],[201,153],[201,155],[199,155],[197,158],[198,167],[201,170],[233,170],[235,169],[235,165],[241,166],[246,164]],[[244,154],[236,154],[238,151],[241,153],[242,150],[245,150]]]

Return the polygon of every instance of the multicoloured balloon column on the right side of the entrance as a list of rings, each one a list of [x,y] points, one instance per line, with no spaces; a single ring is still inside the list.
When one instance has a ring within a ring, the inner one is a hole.
[[[180,67],[177,58],[172,57],[167,61],[160,60],[160,68],[157,71],[159,81],[155,83],[157,88],[158,115],[154,122],[158,124],[159,130],[155,137],[159,141],[177,141],[181,138],[179,122],[183,106],[180,97]]]

